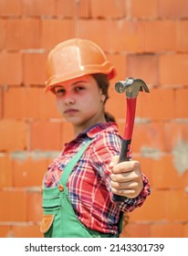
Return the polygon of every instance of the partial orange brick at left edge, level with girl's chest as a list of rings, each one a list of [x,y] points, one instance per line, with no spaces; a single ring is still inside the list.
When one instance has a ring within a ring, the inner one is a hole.
[[[0,155],[0,187],[12,187],[13,176],[9,155]]]

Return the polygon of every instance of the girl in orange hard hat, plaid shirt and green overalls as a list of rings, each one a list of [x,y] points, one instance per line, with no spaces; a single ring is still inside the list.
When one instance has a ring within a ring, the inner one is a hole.
[[[138,161],[118,164],[120,134],[104,110],[115,75],[101,48],[86,39],[64,41],[48,55],[46,91],[55,94],[74,138],[44,177],[45,237],[119,237],[122,213],[150,195]],[[114,202],[113,193],[124,201]]]

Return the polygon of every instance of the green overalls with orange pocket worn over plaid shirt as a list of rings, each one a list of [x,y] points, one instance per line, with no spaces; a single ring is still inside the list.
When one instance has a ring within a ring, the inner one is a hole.
[[[66,165],[59,180],[58,187],[47,187],[43,190],[44,216],[41,224],[41,232],[45,238],[110,238],[118,237],[111,234],[103,234],[88,229],[77,218],[68,197],[68,176],[78,163],[81,155],[91,141],[84,144],[81,150]]]

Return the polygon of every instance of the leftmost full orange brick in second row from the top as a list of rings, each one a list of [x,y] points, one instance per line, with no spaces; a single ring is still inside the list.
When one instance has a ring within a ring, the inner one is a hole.
[[[13,18],[5,21],[5,48],[39,48],[40,21],[35,18]]]

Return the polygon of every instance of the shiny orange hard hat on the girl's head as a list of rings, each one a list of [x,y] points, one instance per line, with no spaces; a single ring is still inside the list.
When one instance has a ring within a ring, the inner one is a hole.
[[[115,77],[116,69],[98,45],[88,39],[72,38],[59,43],[47,57],[46,91],[56,84],[88,74]]]

